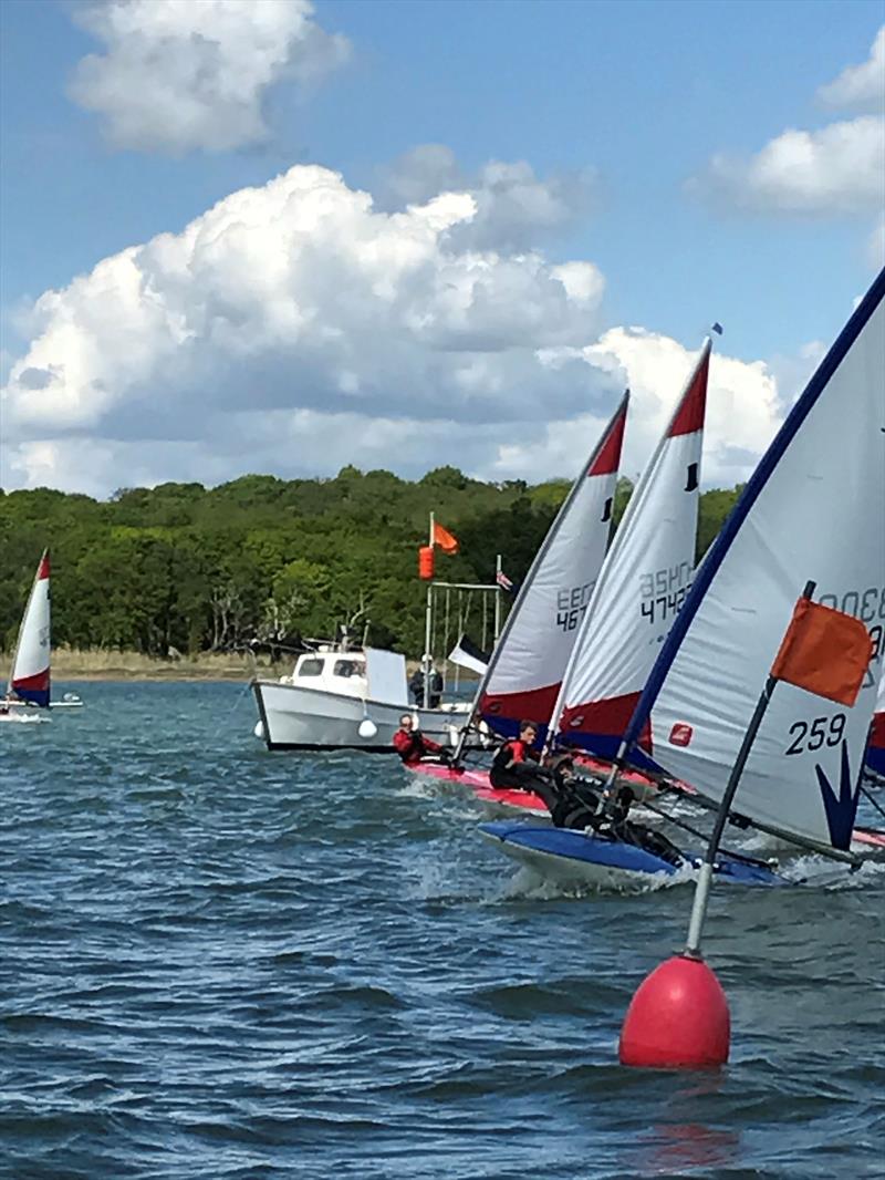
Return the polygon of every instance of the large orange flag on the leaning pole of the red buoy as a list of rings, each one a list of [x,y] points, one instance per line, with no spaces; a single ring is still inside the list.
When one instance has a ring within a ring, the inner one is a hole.
[[[851,708],[873,655],[859,618],[800,598],[772,664],[772,676]]]

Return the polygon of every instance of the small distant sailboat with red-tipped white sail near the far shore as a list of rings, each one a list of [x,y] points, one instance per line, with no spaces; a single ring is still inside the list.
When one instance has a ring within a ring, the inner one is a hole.
[[[0,702],[0,719],[6,721],[48,720],[35,709],[80,706],[79,699],[52,702],[51,681],[50,551],[44,550],[25,614],[9,671],[6,697]]]

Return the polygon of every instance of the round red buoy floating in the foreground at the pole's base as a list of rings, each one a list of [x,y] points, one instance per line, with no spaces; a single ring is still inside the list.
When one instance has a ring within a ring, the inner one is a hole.
[[[703,959],[676,955],[636,990],[621,1029],[622,1066],[709,1069],[728,1061],[728,1001]]]

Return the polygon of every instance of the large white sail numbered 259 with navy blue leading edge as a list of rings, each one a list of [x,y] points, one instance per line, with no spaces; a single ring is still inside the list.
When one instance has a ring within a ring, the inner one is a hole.
[[[885,627],[885,270],[812,378],[695,577],[628,736],[651,722],[658,765],[721,800],[808,581]],[[824,850],[848,847],[878,689],[853,708],[779,683],[734,811]]]

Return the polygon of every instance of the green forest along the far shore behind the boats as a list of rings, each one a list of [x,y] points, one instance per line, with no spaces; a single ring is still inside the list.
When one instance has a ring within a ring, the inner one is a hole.
[[[0,642],[8,651],[44,548],[52,551],[53,644],[150,656],[297,643],[354,622],[369,642],[422,648],[418,548],[428,513],[460,542],[437,576],[493,582],[494,556],[519,582],[569,489],[486,484],[455,467],[411,483],[345,467],[334,479],[243,476],[219,487],[162,484],[110,500],[0,490]],[[615,519],[631,484],[618,483]],[[699,556],[739,489],[701,497]]]

